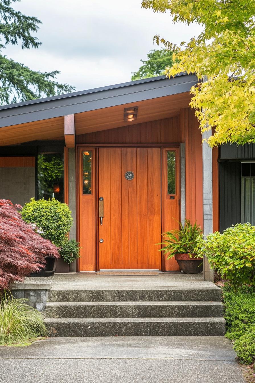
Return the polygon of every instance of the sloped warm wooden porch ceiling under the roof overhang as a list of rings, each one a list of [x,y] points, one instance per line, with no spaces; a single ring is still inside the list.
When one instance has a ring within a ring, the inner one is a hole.
[[[179,114],[190,103],[190,93],[183,92],[75,114],[75,133],[85,134],[120,126],[139,124]],[[124,108],[138,106],[137,119],[123,120]],[[37,140],[64,139],[64,116],[0,128],[0,146]]]

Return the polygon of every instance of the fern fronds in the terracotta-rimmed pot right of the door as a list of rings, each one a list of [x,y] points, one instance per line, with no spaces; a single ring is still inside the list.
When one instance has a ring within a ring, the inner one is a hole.
[[[202,230],[197,222],[192,224],[189,219],[185,219],[185,224],[179,223],[179,230],[167,231],[162,234],[164,242],[161,245],[162,251],[167,255],[167,259],[174,257],[175,254],[194,254],[197,246],[203,240]]]

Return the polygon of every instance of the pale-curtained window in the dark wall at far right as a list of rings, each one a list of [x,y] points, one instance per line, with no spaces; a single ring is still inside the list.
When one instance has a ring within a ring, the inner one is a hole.
[[[242,162],[241,220],[255,225],[255,163]]]

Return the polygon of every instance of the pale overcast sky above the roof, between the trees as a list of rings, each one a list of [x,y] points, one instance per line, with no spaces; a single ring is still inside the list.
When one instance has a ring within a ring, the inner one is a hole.
[[[76,90],[130,81],[160,34],[174,43],[197,36],[196,25],[174,25],[169,14],[141,9],[140,0],[21,0],[13,7],[42,21],[39,49],[10,46],[5,54],[31,69],[60,70]]]

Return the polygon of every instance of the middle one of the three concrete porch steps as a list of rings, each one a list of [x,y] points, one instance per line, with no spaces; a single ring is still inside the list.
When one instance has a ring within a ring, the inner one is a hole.
[[[221,302],[48,302],[47,318],[217,318]]]

